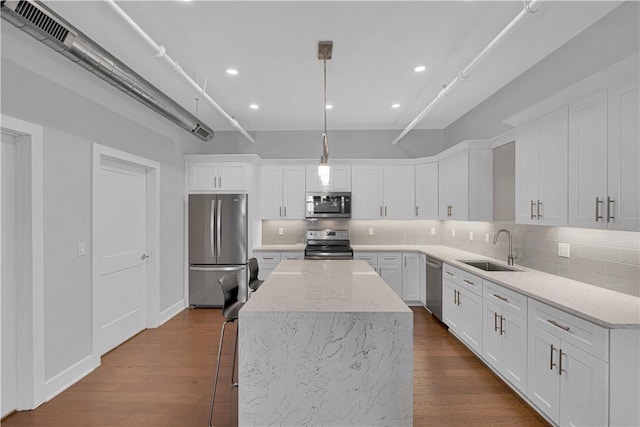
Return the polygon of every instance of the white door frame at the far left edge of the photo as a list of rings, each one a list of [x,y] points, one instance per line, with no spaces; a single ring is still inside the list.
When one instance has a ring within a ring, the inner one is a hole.
[[[18,247],[17,273],[22,286],[18,287],[16,316],[16,407],[28,410],[45,402],[43,128],[6,115],[0,120],[2,131],[16,137],[18,233],[31,237],[20,239],[23,245]]]

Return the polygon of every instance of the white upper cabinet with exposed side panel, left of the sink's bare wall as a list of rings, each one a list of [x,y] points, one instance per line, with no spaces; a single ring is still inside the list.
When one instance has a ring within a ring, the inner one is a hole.
[[[438,217],[493,219],[493,150],[468,149],[438,164]]]

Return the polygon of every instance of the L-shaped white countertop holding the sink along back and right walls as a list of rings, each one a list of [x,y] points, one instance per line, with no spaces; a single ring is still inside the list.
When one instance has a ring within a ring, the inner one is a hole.
[[[283,245],[284,246],[284,245]],[[640,298],[516,265],[519,272],[483,271],[458,260],[504,261],[441,245],[351,245],[355,251],[421,252],[483,279],[610,329],[640,329]],[[280,246],[269,246],[278,250]],[[288,250],[288,249],[283,249]],[[395,294],[394,294],[395,295]]]

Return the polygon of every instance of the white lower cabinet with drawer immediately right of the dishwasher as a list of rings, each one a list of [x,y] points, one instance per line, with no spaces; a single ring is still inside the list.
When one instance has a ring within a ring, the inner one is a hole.
[[[482,354],[482,279],[443,264],[444,323],[470,349]]]

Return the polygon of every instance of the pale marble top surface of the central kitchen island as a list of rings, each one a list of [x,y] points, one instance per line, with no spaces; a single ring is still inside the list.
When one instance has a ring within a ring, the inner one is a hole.
[[[366,261],[282,261],[243,312],[411,312]]]

